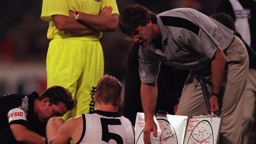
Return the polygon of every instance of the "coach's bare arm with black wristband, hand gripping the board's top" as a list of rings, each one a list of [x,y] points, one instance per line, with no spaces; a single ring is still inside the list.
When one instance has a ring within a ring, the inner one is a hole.
[[[226,56],[221,49],[217,47],[213,60],[211,61],[211,93],[219,94],[221,90],[221,84],[223,82],[224,67],[226,63]],[[217,96],[211,96],[209,98],[210,111],[219,111]],[[204,110],[206,112],[206,110]]]

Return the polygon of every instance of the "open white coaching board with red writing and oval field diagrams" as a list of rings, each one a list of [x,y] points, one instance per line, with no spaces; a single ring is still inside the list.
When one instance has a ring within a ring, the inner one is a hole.
[[[157,137],[150,133],[152,144],[217,144],[221,127],[217,116],[178,116],[156,114]],[[135,144],[144,144],[144,113],[137,113],[135,122]]]

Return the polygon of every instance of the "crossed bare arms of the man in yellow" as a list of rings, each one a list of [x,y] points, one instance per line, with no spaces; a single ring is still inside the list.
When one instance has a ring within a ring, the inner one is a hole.
[[[58,30],[72,35],[90,35],[96,32],[115,31],[117,29],[119,15],[111,15],[111,12],[111,7],[104,7],[100,15],[78,12],[79,21],[74,19],[74,11],[69,11],[69,17],[53,15],[52,18]]]

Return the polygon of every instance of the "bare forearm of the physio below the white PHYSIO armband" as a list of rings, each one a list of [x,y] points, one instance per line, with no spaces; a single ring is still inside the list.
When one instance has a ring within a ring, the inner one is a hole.
[[[45,138],[28,130],[21,124],[11,124],[11,131],[18,142],[26,144],[45,144]]]

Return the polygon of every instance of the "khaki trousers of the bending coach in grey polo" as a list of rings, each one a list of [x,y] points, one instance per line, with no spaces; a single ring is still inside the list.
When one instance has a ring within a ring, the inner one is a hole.
[[[226,50],[226,66],[219,98],[219,112],[223,115],[221,126],[220,144],[240,144],[242,115],[243,115],[243,91],[245,89],[249,57],[243,42],[235,36],[234,41]],[[203,114],[206,109],[200,83],[196,72],[190,72],[182,90],[178,111],[176,115],[197,116]],[[211,93],[211,75],[205,77],[206,86]],[[194,81],[194,83],[193,83]]]

